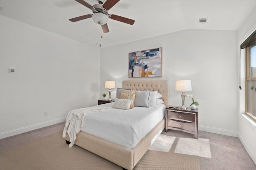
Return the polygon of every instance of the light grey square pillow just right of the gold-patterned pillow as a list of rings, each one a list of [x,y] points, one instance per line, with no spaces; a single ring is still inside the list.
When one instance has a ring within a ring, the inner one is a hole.
[[[150,90],[136,91],[135,106],[149,107]]]

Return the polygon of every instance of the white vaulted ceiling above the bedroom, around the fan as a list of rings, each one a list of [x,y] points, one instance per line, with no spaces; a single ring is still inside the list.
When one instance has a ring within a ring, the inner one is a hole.
[[[135,23],[109,19],[110,32],[103,33],[101,44],[108,47],[186,29],[239,30],[255,5],[256,0],[120,0],[109,13]],[[92,18],[68,20],[86,14],[92,10],[75,0],[0,0],[2,16],[96,46],[100,26]],[[198,24],[198,18],[208,18],[208,24]]]

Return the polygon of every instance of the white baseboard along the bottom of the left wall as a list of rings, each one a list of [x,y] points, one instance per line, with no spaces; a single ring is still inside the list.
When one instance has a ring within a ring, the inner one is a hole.
[[[17,128],[17,129],[9,130],[9,131],[6,131],[6,132],[1,132],[0,133],[0,139],[7,138],[9,136],[14,136],[16,134],[21,134],[21,133],[24,133],[24,132],[28,132],[28,131],[31,131],[31,130],[35,130],[35,129],[38,129],[38,128],[47,127],[47,126],[54,125],[56,123],[65,122],[65,121],[66,121],[66,117],[60,118],[60,119],[54,119],[54,120],[47,121],[47,122],[38,123],[38,124],[35,124],[35,125],[30,125],[30,126],[27,126],[27,127]]]

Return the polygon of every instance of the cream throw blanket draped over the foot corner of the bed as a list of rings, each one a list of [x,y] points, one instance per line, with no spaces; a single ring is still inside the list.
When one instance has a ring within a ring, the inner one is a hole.
[[[110,109],[111,107],[86,107],[70,111],[62,135],[63,138],[66,138],[66,133],[68,132],[71,142],[69,147],[71,148],[74,145],[76,134],[80,132],[81,127],[84,127],[84,115],[92,112],[109,111]]]

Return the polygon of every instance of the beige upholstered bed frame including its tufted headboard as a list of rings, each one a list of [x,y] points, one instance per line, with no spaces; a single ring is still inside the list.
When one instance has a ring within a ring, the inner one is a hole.
[[[163,95],[161,99],[164,101],[164,105],[169,105],[169,82],[167,80],[125,80],[122,82],[122,88],[133,90],[157,90]],[[82,131],[76,134],[74,144],[97,154],[124,169],[132,170],[163,130],[164,119],[133,149],[120,146]],[[65,139],[66,142],[69,143],[69,137],[67,136]]]

